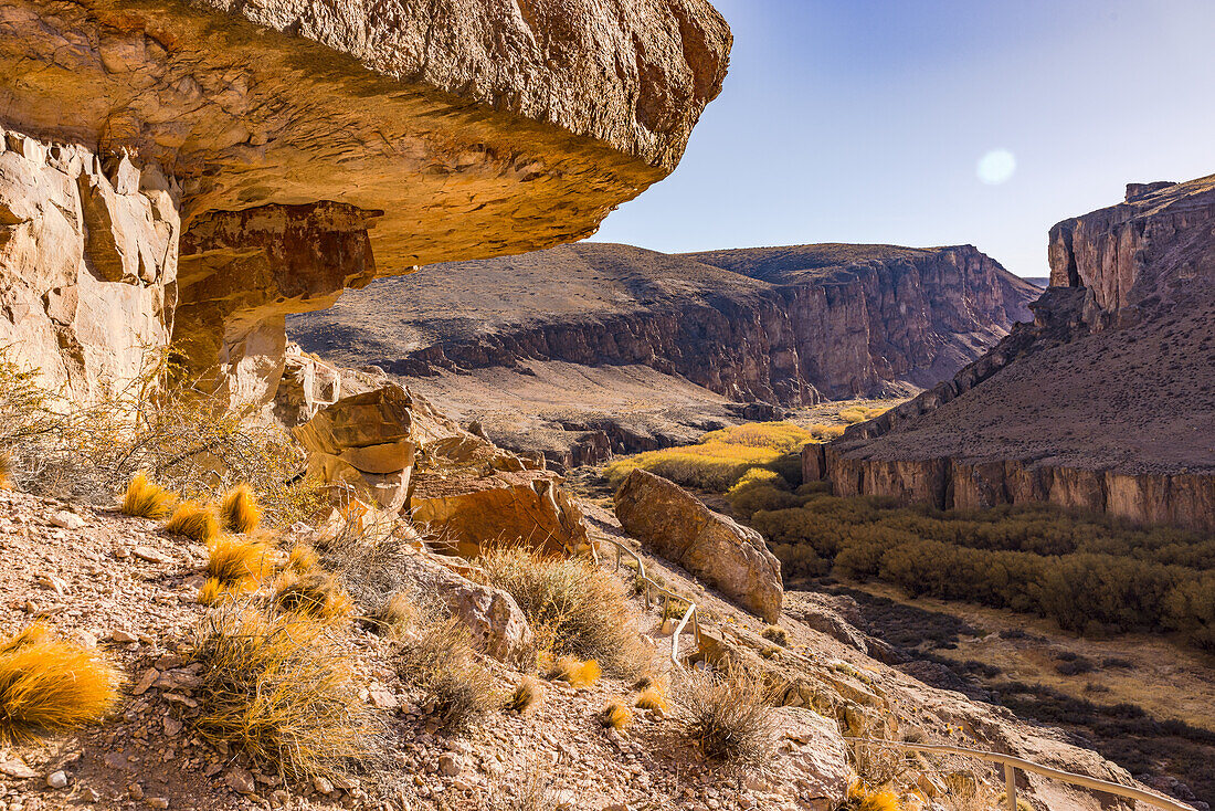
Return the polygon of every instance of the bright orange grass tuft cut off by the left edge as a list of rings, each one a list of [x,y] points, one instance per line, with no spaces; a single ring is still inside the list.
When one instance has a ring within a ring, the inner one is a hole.
[[[0,643],[0,743],[24,743],[96,723],[118,700],[122,676],[96,651],[35,624]]]

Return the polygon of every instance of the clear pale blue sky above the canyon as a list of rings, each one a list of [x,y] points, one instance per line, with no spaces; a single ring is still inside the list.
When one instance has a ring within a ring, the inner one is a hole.
[[[1040,276],[1056,221],[1215,173],[1209,0],[713,2],[725,89],[595,241],[972,243]]]

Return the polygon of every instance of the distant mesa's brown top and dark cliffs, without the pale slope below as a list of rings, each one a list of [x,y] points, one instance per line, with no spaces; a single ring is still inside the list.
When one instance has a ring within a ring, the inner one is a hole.
[[[807,405],[934,383],[1027,319],[1036,295],[970,246],[668,257],[580,244],[430,272],[458,275],[469,300],[445,306],[414,280],[382,282],[294,320],[292,333],[401,376],[531,359],[639,364],[738,401]],[[538,304],[535,277],[552,278]]]

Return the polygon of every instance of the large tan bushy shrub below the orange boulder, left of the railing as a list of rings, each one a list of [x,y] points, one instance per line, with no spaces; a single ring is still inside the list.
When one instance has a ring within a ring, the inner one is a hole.
[[[612,675],[645,670],[650,651],[637,633],[625,586],[582,558],[550,558],[499,546],[477,558],[484,580],[519,603],[541,649],[595,659]]]

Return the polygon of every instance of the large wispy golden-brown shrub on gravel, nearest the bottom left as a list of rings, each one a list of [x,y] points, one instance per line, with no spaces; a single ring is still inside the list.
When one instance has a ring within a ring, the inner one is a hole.
[[[341,772],[368,754],[374,715],[323,625],[224,609],[204,621],[193,658],[202,664],[197,728],[208,740],[295,779]]]

